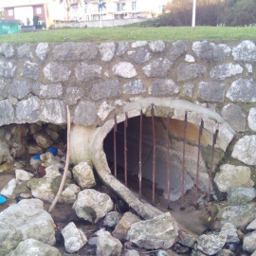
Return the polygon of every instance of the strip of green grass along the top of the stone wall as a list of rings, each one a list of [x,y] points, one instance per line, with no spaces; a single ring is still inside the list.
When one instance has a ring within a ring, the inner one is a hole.
[[[256,39],[256,27],[103,27],[63,28],[32,33],[0,35],[2,43],[64,43],[137,40]]]

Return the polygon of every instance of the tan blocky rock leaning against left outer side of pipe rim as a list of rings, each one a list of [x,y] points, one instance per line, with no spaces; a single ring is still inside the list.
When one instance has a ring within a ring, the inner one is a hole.
[[[72,173],[74,175],[74,179],[82,189],[89,189],[96,185],[92,168],[87,162],[83,161],[76,165],[73,168]]]

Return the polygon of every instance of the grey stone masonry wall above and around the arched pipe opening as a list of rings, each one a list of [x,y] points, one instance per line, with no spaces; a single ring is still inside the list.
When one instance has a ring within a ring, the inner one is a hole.
[[[0,125],[72,121],[101,126],[143,98],[191,101],[237,133],[232,157],[256,165],[256,45],[108,42],[0,46]]]

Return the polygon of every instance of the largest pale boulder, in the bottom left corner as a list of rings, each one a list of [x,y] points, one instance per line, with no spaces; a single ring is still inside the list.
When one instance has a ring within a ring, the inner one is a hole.
[[[18,216],[18,217],[17,217]],[[55,225],[38,199],[24,199],[0,213],[0,255],[20,242],[33,238],[49,246],[55,244]],[[40,231],[39,231],[40,230]]]

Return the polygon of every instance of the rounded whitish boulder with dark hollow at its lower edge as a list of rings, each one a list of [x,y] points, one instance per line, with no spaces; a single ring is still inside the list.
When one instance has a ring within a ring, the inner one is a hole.
[[[77,201],[73,205],[73,209],[80,218],[95,223],[113,207],[114,204],[108,194],[91,189],[80,192]]]

